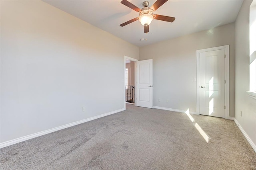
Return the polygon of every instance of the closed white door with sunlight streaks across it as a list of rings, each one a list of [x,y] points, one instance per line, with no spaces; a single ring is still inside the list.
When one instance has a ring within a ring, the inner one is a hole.
[[[200,111],[202,115],[225,117],[225,50],[201,52]]]

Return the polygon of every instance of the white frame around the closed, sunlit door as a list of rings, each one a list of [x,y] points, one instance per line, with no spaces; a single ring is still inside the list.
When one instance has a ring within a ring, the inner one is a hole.
[[[207,51],[214,51],[214,50],[225,50],[225,103],[224,106],[226,106],[225,109],[225,119],[229,118],[229,45],[223,45],[220,47],[212,47],[208,49],[201,49],[196,50],[196,113],[199,115],[199,108],[200,108],[200,53],[207,52]]]

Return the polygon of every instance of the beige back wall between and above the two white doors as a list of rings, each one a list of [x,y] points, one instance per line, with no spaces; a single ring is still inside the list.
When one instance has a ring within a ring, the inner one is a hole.
[[[230,45],[229,115],[234,116],[234,30],[230,23],[140,47],[140,60],[153,59],[153,106],[196,112],[196,50]]]

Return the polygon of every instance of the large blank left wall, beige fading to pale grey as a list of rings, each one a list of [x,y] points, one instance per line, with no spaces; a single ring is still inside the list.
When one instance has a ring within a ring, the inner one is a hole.
[[[42,1],[0,3],[0,143],[124,108],[138,47]]]

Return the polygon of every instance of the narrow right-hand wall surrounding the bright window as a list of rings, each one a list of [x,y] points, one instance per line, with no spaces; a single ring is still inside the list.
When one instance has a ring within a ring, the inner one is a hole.
[[[236,19],[236,102],[235,118],[256,148],[256,100],[249,90],[249,7],[252,0],[244,0]],[[241,116],[242,111],[242,116]]]

